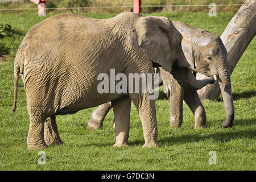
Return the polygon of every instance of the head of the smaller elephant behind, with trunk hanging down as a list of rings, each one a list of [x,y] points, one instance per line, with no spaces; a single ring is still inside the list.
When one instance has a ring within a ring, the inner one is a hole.
[[[226,111],[226,121],[222,126],[231,127],[234,105],[224,44],[219,36],[208,31],[193,28],[182,22],[174,22],[174,26],[183,35],[182,48],[191,67],[218,81]]]

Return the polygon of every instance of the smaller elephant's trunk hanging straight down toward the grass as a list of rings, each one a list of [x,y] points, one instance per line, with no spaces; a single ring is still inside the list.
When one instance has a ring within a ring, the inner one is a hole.
[[[234,104],[231,91],[231,82],[228,68],[224,62],[218,67],[218,84],[220,85],[224,107],[226,111],[226,120],[222,122],[223,127],[232,127],[234,121]]]

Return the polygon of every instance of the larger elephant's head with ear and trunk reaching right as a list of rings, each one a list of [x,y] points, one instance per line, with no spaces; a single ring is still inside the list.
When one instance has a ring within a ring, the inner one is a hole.
[[[135,15],[133,34],[137,39],[138,46],[152,61],[153,67],[163,67],[171,72],[181,86],[189,90],[203,88],[213,79],[204,81],[196,80],[185,58],[181,47],[183,39],[179,31],[174,27],[171,20],[162,16]]]

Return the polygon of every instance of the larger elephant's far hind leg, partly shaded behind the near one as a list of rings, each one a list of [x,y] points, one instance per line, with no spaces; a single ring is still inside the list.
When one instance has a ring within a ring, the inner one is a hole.
[[[64,144],[60,139],[55,115],[48,117],[44,122],[44,141],[47,146],[52,144]]]

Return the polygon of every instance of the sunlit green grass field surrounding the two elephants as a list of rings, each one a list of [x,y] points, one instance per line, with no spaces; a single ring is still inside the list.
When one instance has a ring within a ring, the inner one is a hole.
[[[48,14],[48,16],[54,13]],[[92,18],[109,18],[115,14],[82,14]],[[209,17],[204,13],[154,13],[180,20],[191,26],[221,35],[234,14],[219,13]],[[47,18],[46,17],[46,18]],[[9,23],[13,36],[0,39],[11,56],[15,56],[26,32],[45,19],[36,13],[0,14],[0,23]],[[183,125],[169,126],[168,101],[160,88],[156,101],[158,142],[161,148],[142,148],[142,124],[135,106],[131,108],[130,147],[116,148],[112,127],[113,111],[105,119],[104,129],[90,131],[87,123],[94,108],[73,115],[57,116],[63,146],[44,149],[46,165],[39,165],[38,152],[27,150],[29,115],[23,82],[19,82],[18,105],[10,124],[13,106],[13,60],[0,64],[0,169],[1,170],[255,170],[256,144],[256,40],[250,43],[234,70],[232,90],[235,119],[231,129],[221,127],[225,119],[221,97],[203,101],[207,113],[207,128],[194,130],[193,114],[184,104]],[[210,165],[209,152],[215,151],[217,164]]]

